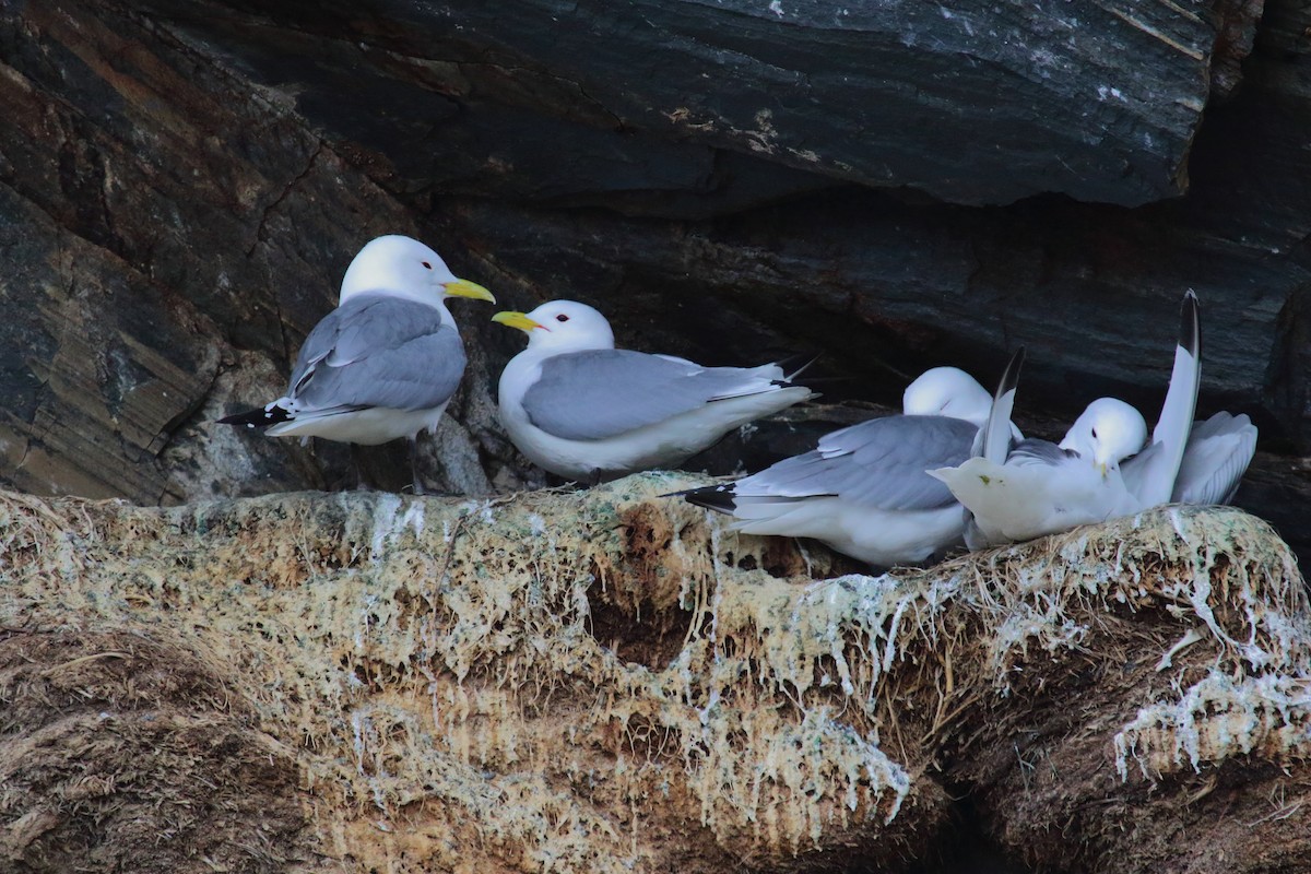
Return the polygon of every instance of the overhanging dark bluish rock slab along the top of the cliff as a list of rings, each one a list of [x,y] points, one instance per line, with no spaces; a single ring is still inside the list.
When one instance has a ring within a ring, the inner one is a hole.
[[[1224,14],[1207,3],[384,0],[366,14],[232,4],[250,12],[214,24],[215,4],[187,5],[189,30],[240,42],[257,76],[307,85],[300,111],[396,155],[422,186],[597,194],[611,176],[684,187],[726,151],[954,203],[1063,191],[1130,206],[1184,189]],[[1259,12],[1240,8],[1238,30]],[[287,31],[307,51],[288,52]],[[435,128],[460,157],[399,155],[433,145]],[[544,151],[553,134],[565,148]]]

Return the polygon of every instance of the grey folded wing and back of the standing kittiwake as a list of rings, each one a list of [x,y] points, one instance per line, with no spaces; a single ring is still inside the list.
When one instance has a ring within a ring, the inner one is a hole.
[[[438,309],[363,295],[309,333],[287,394],[299,411],[422,410],[450,400],[463,375],[464,343]]]

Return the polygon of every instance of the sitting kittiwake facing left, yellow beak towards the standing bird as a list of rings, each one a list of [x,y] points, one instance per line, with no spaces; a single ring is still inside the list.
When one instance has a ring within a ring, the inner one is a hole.
[[[501,373],[501,422],[534,464],[579,482],[666,468],[814,397],[777,364],[703,367],[615,349],[610,322],[553,300],[493,321],[528,334]]]

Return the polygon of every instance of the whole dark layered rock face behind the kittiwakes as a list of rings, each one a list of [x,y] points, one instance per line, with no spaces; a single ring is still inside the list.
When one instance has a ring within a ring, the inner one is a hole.
[[[1200,411],[1262,430],[1238,503],[1311,554],[1311,13],[1291,0],[8,9],[5,482],[138,502],[351,484],[340,447],[211,422],[282,390],[351,254],[400,232],[509,307],[595,303],[636,347],[825,350],[829,401],[895,404],[940,363],[988,383],[1023,342],[1038,431],[1106,393],[1152,418],[1196,288]],[[494,422],[520,341],[454,309],[471,363],[433,486],[540,484]],[[750,466],[796,451],[789,427]],[[399,452],[371,459],[406,480]]]

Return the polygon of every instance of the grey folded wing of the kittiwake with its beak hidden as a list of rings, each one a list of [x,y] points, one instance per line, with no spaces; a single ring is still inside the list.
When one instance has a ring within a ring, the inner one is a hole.
[[[928,476],[970,456],[977,428],[940,415],[890,415],[826,435],[819,448],[739,480],[738,495],[835,495],[880,510],[935,510],[956,503]]]

